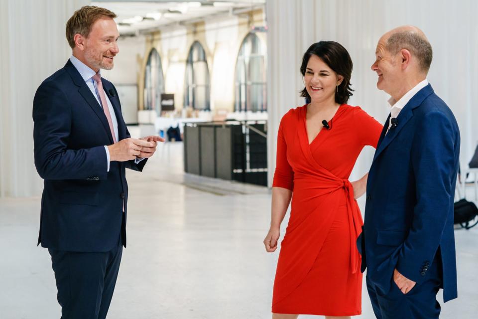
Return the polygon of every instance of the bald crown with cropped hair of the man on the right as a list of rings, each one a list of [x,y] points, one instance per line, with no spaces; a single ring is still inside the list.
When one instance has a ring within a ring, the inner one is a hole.
[[[382,35],[381,41],[391,54],[402,49],[410,51],[417,58],[420,71],[428,73],[432,64],[432,46],[422,30],[413,25],[399,26]]]

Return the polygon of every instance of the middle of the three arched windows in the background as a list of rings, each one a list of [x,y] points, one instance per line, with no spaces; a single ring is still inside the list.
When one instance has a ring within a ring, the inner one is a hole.
[[[210,110],[208,62],[206,52],[198,41],[191,45],[186,61],[184,106],[196,110]]]

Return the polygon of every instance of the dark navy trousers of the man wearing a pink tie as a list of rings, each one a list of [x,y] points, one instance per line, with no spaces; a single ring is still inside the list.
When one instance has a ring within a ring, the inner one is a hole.
[[[62,319],[105,319],[118,278],[122,246],[109,252],[48,249]]]

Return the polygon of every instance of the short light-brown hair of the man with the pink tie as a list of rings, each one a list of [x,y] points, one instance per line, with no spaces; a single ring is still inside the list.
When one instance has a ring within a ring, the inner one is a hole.
[[[76,10],[66,22],[66,39],[70,47],[72,49],[75,47],[75,34],[80,33],[84,37],[88,37],[93,23],[104,17],[113,19],[116,18],[116,14],[95,5],[85,5]]]

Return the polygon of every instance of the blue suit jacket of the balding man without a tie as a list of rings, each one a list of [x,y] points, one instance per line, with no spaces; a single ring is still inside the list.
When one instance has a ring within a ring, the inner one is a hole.
[[[401,110],[378,141],[368,174],[365,221],[358,240],[361,271],[387,292],[393,270],[419,285],[441,252],[445,302],[457,297],[453,204],[460,132],[430,85]]]

